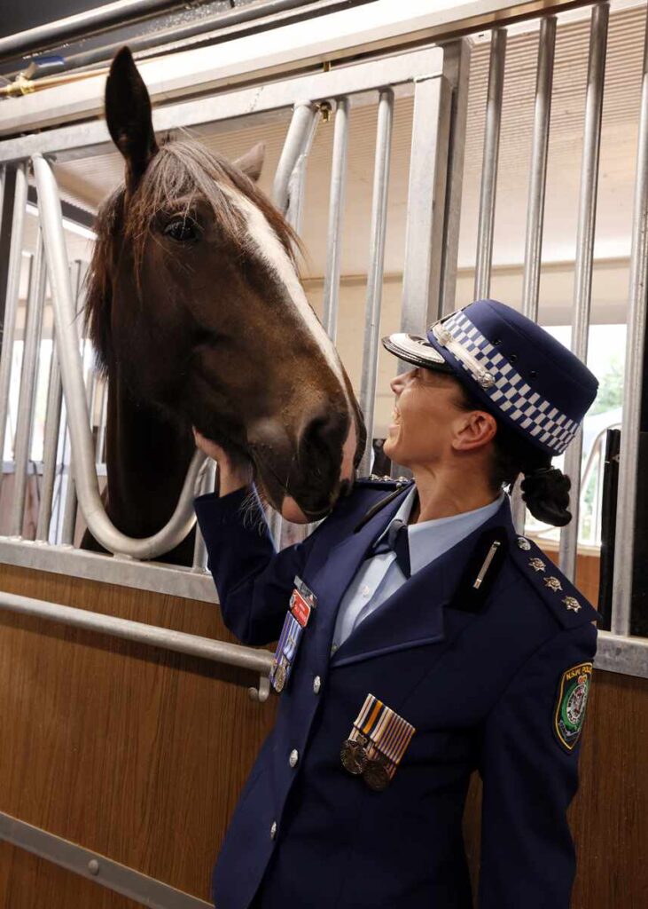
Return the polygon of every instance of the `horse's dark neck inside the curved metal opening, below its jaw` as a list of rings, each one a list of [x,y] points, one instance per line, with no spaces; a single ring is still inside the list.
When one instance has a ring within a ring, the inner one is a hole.
[[[118,373],[109,376],[106,508],[129,536],[151,536],[169,521],[195,445],[191,430],[134,401]]]

